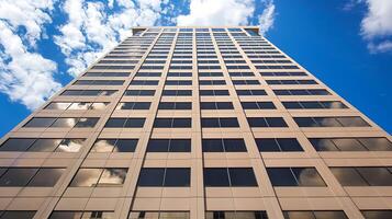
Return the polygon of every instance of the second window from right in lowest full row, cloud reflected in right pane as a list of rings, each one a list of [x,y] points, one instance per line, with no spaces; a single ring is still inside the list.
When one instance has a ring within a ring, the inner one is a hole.
[[[267,168],[272,186],[326,186],[315,168]]]

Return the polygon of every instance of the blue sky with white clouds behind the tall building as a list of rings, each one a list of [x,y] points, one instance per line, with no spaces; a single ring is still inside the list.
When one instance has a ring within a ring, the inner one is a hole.
[[[0,0],[0,136],[132,26],[248,24],[392,132],[391,0]]]

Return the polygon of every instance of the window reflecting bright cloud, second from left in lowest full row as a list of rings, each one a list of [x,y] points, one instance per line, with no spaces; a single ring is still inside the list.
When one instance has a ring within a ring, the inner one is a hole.
[[[122,186],[127,169],[125,168],[80,168],[70,182],[70,187]]]

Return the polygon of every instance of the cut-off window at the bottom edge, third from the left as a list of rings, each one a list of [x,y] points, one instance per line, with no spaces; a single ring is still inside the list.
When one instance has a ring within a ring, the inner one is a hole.
[[[127,219],[189,219],[188,211],[131,211]]]

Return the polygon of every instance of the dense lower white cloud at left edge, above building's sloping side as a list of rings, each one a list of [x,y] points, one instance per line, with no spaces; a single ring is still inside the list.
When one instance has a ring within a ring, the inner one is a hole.
[[[8,94],[11,101],[34,110],[60,89],[61,84],[53,78],[56,64],[40,54],[27,51],[21,37],[2,21],[0,43],[4,48],[0,59],[0,91]]]

